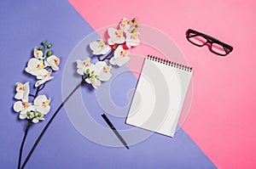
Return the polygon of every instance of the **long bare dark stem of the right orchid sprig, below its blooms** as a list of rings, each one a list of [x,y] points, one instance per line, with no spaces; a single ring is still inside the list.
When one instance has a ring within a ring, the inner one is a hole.
[[[55,116],[59,113],[59,111],[61,110],[61,108],[63,107],[63,105],[67,102],[67,100],[73,95],[73,93],[75,93],[77,91],[77,89],[84,84],[85,79],[83,79],[81,82],[79,82],[79,84],[74,87],[73,91],[71,93],[69,93],[69,95],[67,96],[67,98],[59,105],[59,107],[57,108],[57,110],[55,110],[54,115],[52,115],[52,117],[49,119],[48,123],[46,124],[46,126],[44,127],[43,131],[40,133],[37,141],[35,142],[35,144],[33,144],[32,149],[29,151],[28,155],[26,156],[26,160],[24,161],[24,163],[22,164],[20,169],[23,169],[26,166],[27,161],[29,160],[29,158],[31,157],[33,151],[36,149],[39,141],[41,140],[41,138],[44,136],[44,132],[47,130],[47,128],[49,127],[49,125],[51,124],[51,122],[55,119]]]

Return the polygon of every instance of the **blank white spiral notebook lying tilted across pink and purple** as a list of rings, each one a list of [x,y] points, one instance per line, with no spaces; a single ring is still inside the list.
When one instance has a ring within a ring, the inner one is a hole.
[[[189,66],[148,55],[125,123],[173,137],[192,73]]]

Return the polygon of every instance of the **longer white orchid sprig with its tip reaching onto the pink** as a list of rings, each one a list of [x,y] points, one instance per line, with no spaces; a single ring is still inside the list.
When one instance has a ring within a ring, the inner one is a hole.
[[[90,42],[90,49],[92,50],[93,54],[91,57],[96,57],[98,61],[96,63],[91,63],[91,59],[89,57],[85,58],[84,60],[76,61],[77,73],[82,76],[82,81],[73,88],[73,91],[69,93],[67,98],[64,99],[57,110],[55,110],[55,113],[52,115],[49,122],[40,133],[35,144],[33,144],[29,154],[26,156],[26,160],[21,166],[21,169],[26,166],[26,162],[30,159],[34,149],[37,147],[39,141],[44,136],[44,132],[55,119],[55,116],[60,112],[63,105],[67,103],[67,100],[70,97],[72,97],[73,93],[75,93],[76,90],[84,83],[89,83],[94,88],[100,87],[102,82],[108,81],[112,76],[112,66],[122,66],[130,60],[128,49],[136,47],[140,43],[137,27],[139,27],[137,18],[134,18],[133,20],[123,18],[123,20],[121,20],[119,23],[119,28],[115,29],[110,27],[108,29],[108,43],[104,42],[102,39],[95,42]],[[105,62],[105,60],[109,61]],[[44,61],[45,59],[43,60],[43,63]],[[46,61],[48,62],[47,59]],[[38,67],[40,67],[40,65]]]

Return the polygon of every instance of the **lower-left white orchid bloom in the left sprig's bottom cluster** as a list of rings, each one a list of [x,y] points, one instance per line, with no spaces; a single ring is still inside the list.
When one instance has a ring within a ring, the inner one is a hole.
[[[13,108],[16,112],[20,112],[20,119],[32,118],[31,111],[34,111],[34,106],[31,103],[17,101]]]

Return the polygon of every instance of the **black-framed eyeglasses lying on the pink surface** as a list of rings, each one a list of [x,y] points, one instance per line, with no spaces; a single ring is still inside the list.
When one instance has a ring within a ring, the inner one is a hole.
[[[220,42],[214,37],[210,37],[206,34],[191,29],[187,31],[186,37],[189,42],[195,44],[198,47],[202,47],[209,43],[209,49],[212,51],[212,53],[221,56],[226,56],[227,54],[230,54],[230,52],[232,52],[233,50],[233,47],[231,47],[230,45],[224,42]]]

